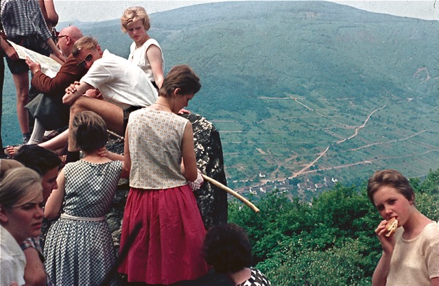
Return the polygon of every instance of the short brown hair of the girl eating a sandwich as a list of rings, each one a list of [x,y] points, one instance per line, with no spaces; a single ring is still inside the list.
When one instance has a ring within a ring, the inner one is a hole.
[[[384,169],[381,171],[376,171],[375,174],[368,180],[368,198],[370,202],[375,206],[373,201],[373,195],[381,187],[392,187],[396,189],[401,195],[403,195],[407,200],[414,201],[414,191],[412,186],[410,186],[409,180],[403,176],[399,171],[394,169]]]

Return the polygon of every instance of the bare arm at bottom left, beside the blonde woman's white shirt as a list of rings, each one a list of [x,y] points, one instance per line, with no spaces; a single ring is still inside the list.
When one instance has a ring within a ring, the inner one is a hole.
[[[35,248],[23,250],[26,257],[25,282],[26,285],[45,286],[46,272]]]

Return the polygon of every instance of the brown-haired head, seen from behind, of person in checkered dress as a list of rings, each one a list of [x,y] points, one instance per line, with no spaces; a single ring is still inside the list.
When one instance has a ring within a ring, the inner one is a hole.
[[[94,152],[108,141],[105,121],[93,111],[78,112],[72,126],[73,139],[84,152]]]

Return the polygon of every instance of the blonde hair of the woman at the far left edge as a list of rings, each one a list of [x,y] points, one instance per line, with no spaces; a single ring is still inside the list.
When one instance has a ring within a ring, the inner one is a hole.
[[[23,198],[36,198],[42,191],[41,176],[36,171],[27,167],[9,169],[1,180],[0,205],[12,208]]]

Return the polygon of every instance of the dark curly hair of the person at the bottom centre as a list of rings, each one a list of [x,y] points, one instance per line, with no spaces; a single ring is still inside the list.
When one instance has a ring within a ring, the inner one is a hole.
[[[204,259],[215,272],[235,273],[252,263],[252,248],[245,230],[236,224],[213,226],[203,243]]]

